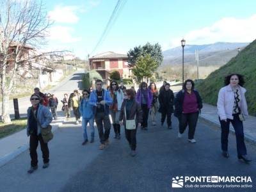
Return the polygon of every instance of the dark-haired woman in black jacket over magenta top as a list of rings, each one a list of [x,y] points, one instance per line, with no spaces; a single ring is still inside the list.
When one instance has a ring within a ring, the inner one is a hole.
[[[188,141],[196,143],[194,139],[198,115],[203,107],[202,99],[195,90],[195,83],[187,79],[183,84],[183,89],[177,93],[175,99],[174,115],[179,118],[179,133],[181,138],[188,125]]]

